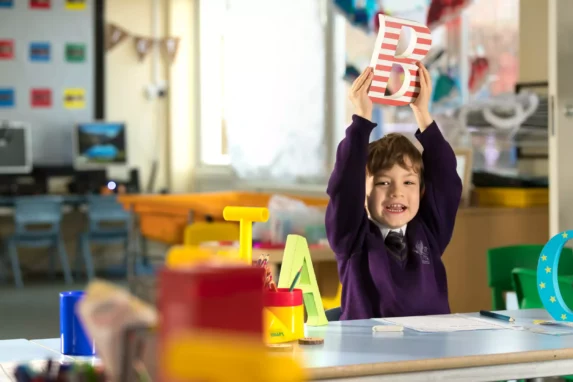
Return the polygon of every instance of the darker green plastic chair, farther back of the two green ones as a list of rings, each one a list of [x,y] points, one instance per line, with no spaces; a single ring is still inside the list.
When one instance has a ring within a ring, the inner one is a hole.
[[[537,269],[539,255],[544,245],[513,245],[491,248],[487,251],[487,278],[492,292],[492,309],[505,310],[505,292],[514,291],[514,268]],[[573,274],[573,249],[563,248],[559,274]]]

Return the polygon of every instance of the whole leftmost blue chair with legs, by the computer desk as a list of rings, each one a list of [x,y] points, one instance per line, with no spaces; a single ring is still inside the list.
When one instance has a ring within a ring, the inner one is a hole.
[[[7,238],[5,245],[12,265],[14,282],[18,288],[24,286],[18,261],[18,247],[52,249],[50,275],[52,277],[55,275],[54,255],[57,253],[66,283],[73,282],[68,255],[60,233],[62,201],[62,198],[57,196],[25,196],[14,200],[15,231]]]

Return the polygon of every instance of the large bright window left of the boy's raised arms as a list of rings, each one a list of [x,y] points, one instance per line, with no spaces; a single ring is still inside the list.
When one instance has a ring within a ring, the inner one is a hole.
[[[327,128],[327,6],[201,1],[203,164],[229,164],[249,180],[325,181],[335,130]]]

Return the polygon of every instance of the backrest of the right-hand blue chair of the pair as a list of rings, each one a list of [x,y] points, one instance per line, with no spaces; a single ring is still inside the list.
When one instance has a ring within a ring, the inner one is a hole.
[[[90,232],[126,232],[131,214],[117,201],[115,195],[88,195],[88,219]],[[113,228],[102,225],[113,224]]]

